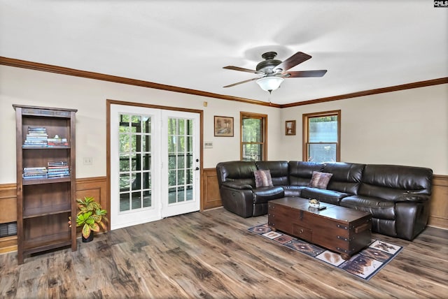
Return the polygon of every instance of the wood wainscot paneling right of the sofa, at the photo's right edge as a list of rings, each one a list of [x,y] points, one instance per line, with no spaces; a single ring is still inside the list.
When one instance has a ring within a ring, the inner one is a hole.
[[[448,175],[434,175],[429,226],[448,229]]]

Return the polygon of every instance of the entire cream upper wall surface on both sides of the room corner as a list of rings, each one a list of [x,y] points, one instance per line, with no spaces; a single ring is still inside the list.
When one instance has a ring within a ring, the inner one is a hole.
[[[204,149],[204,168],[239,159],[240,111],[268,115],[269,160],[302,160],[302,114],[341,109],[342,161],[423,166],[448,175],[448,85],[279,109],[0,66],[0,184],[15,182],[13,103],[78,109],[76,177],[106,175],[106,99],[203,110],[204,141],[214,143]],[[234,117],[235,137],[214,137],[214,115]],[[285,136],[291,119],[296,135]],[[92,157],[93,165],[83,165],[83,157]]]

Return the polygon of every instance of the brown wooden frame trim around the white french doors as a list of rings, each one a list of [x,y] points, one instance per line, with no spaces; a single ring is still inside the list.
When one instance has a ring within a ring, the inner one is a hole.
[[[163,105],[152,105],[145,103],[135,103],[135,102],[127,102],[127,101],[116,101],[106,99],[106,186],[107,186],[107,198],[106,198],[106,210],[109,212],[111,210],[111,105],[129,105],[135,107],[142,108],[155,108],[161,110],[174,110],[174,111],[182,111],[182,112],[193,112],[198,113],[200,115],[200,212],[204,210],[204,182],[203,182],[203,170],[204,170],[204,110],[190,109],[190,108],[179,108],[179,107],[170,107]],[[111,230],[111,221],[109,217],[108,231]]]

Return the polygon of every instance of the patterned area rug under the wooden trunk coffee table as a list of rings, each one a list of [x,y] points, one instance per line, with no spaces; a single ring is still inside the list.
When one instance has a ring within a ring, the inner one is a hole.
[[[390,242],[372,239],[367,248],[358,254],[354,254],[350,260],[345,261],[340,254],[294,238],[286,233],[272,231],[267,224],[253,226],[248,230],[365,280],[371,279],[403,249],[403,247]]]

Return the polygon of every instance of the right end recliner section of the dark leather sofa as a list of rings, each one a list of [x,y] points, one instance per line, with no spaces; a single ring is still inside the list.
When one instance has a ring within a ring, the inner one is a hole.
[[[340,205],[372,214],[372,230],[413,240],[426,227],[433,171],[396,165],[366,165],[358,194]]]

